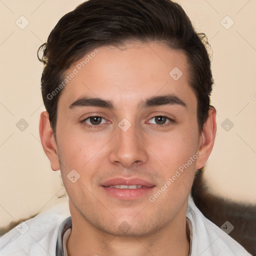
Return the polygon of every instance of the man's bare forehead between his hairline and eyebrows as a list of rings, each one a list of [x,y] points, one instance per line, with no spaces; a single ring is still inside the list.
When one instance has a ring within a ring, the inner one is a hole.
[[[75,75],[59,99],[66,105],[82,95],[105,98],[123,106],[166,93],[196,105],[188,83],[185,54],[160,43],[98,47],[87,52],[65,75],[72,72]]]

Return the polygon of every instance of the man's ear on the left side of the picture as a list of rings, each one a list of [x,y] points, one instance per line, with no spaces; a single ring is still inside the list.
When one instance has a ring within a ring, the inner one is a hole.
[[[57,145],[50,127],[49,114],[47,111],[41,112],[39,133],[43,150],[50,160],[51,169],[59,170]]]

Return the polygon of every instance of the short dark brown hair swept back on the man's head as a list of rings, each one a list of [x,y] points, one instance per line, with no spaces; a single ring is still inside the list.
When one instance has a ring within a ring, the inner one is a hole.
[[[208,117],[213,84],[204,39],[205,34],[195,32],[183,8],[170,0],[88,0],[81,3],[58,21],[47,42],[37,51],[39,60],[44,63],[41,92],[53,133],[62,90],[50,98],[47,95],[52,95],[50,93],[61,83],[65,70],[96,47],[124,45],[128,40],[159,41],[185,53],[201,130]],[[43,51],[41,57],[40,50]]]

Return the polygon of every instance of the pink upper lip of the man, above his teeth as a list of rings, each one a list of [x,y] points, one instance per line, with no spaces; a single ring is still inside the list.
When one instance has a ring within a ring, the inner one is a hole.
[[[153,186],[154,184],[137,177],[133,177],[133,178],[115,177],[115,178],[110,178],[101,184],[101,186],[110,186],[110,185],[141,185],[141,186],[150,187],[150,186]]]

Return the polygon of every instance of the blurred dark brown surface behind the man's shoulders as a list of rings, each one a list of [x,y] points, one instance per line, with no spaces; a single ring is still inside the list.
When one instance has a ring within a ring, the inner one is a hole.
[[[197,171],[191,192],[195,205],[206,218],[218,227],[221,227],[228,220],[234,226],[229,235],[253,256],[256,256],[256,205],[236,203],[211,194],[206,186],[205,179],[203,179],[203,169]],[[36,215],[34,214],[29,218]],[[8,225],[0,227],[0,235],[8,232],[20,221],[29,218],[11,221]]]

